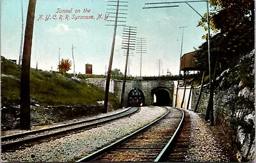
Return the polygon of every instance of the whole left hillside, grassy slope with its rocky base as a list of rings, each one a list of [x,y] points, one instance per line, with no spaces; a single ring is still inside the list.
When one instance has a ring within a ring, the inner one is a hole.
[[[2,130],[19,128],[20,71],[20,66],[1,57]],[[104,101],[104,90],[71,76],[31,69],[32,124],[61,122],[102,112],[97,101]],[[118,109],[118,103],[118,98],[109,94],[109,110]]]

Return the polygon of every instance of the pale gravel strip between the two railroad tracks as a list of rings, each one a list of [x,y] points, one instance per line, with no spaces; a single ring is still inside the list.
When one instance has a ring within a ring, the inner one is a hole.
[[[115,120],[97,128],[31,146],[24,150],[2,153],[2,160],[7,162],[67,162],[115,139],[122,138],[156,120],[164,113],[166,113],[164,108],[141,107],[140,112],[130,117]]]

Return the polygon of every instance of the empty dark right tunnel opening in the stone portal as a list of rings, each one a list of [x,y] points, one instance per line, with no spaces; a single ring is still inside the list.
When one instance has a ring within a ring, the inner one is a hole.
[[[152,90],[154,106],[170,106],[170,94],[164,87]]]

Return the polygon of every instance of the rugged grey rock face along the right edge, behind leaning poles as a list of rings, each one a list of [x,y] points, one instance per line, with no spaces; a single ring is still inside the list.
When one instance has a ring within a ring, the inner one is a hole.
[[[223,127],[237,142],[244,161],[255,161],[255,50],[241,57],[239,64],[216,78],[214,124]],[[192,110],[200,88],[193,90]],[[204,86],[198,112],[205,114],[209,88]]]

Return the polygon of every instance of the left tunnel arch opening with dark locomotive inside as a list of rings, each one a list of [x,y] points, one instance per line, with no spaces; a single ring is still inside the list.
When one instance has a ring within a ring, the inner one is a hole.
[[[143,92],[140,89],[133,88],[129,91],[128,94],[128,107],[132,106],[132,104],[142,104],[142,106],[145,105],[145,97]]]

